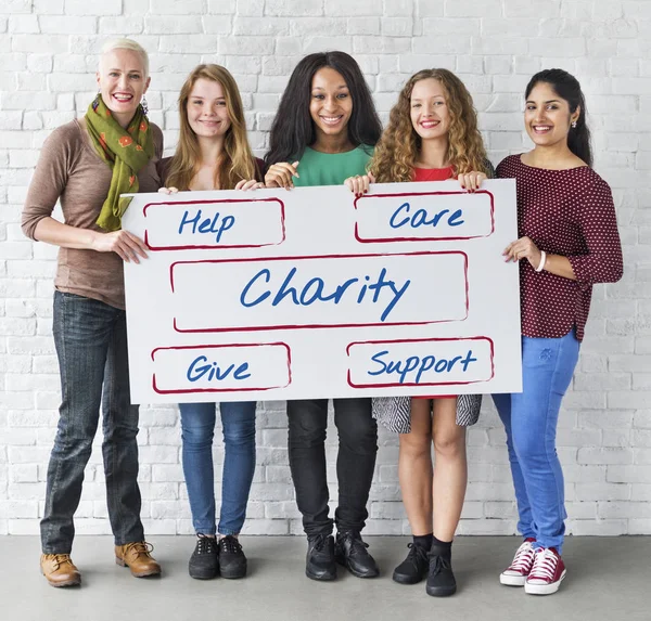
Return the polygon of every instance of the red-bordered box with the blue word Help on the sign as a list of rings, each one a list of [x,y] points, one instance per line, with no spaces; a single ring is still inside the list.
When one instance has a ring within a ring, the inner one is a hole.
[[[258,248],[284,240],[284,205],[278,198],[148,204],[143,211],[152,250]]]

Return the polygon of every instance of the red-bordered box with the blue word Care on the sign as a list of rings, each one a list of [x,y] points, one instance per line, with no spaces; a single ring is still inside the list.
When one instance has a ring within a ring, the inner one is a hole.
[[[355,207],[360,242],[472,240],[494,230],[489,192],[367,194]]]

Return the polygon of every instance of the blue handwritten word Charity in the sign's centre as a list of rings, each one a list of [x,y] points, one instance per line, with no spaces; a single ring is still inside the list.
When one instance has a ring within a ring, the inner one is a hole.
[[[333,277],[321,276],[310,277],[306,282],[305,276],[301,277],[297,272],[298,269],[294,267],[278,277],[267,268],[260,270],[242,289],[240,302],[246,308],[263,302],[271,303],[272,307],[283,302],[302,307],[319,302],[339,305],[342,301],[372,303],[383,308],[380,321],[385,321],[411,283],[405,281],[397,285],[395,281],[387,280],[386,268],[382,268],[373,279],[365,275],[348,279],[343,283],[332,282]]]

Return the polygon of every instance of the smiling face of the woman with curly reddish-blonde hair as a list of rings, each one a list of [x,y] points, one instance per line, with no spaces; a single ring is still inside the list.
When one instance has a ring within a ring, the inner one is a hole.
[[[447,93],[435,78],[419,80],[411,90],[411,125],[422,140],[442,139],[450,129]]]

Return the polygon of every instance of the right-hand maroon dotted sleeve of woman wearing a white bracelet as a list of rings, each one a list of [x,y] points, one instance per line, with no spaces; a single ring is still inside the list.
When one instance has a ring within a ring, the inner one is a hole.
[[[579,283],[615,283],[624,272],[622,243],[611,190],[599,179],[576,205],[575,221],[587,246],[587,254],[567,259]]]

